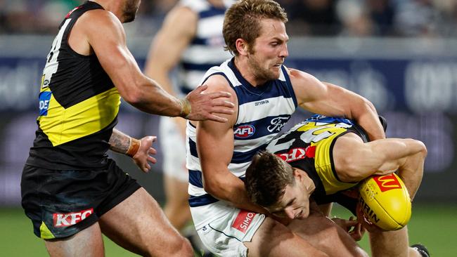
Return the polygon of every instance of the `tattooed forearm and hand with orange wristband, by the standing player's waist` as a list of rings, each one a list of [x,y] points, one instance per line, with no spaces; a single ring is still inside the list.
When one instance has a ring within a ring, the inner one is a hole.
[[[128,155],[139,166],[141,171],[148,172],[150,170],[149,162],[152,164],[157,162],[151,155],[157,153],[152,147],[155,139],[155,136],[145,136],[138,140],[127,136],[117,129],[113,129],[109,142],[110,150]]]

